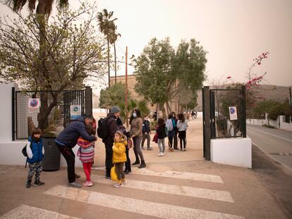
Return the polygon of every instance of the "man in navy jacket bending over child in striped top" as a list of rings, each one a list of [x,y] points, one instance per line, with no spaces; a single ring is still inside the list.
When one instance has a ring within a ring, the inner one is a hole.
[[[67,162],[69,185],[73,187],[82,187],[80,183],[75,181],[75,154],[72,150],[73,147],[77,144],[79,137],[89,142],[97,140],[97,137],[88,134],[85,129],[85,125],[90,123],[93,123],[92,115],[87,115],[85,118],[80,116],[67,125],[63,132],[56,138],[56,146]]]

